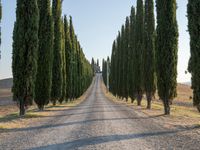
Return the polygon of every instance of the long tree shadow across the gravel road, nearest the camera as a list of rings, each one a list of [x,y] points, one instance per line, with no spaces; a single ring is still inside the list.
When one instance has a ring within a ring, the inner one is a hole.
[[[97,145],[97,144],[105,144],[109,142],[119,142],[124,140],[134,140],[134,139],[140,139],[140,138],[148,138],[148,137],[156,137],[156,136],[167,136],[167,135],[173,135],[180,132],[193,130],[200,127],[193,127],[190,129],[183,129],[183,130],[171,130],[171,131],[157,131],[157,132],[147,132],[147,133],[138,133],[138,134],[115,134],[115,135],[107,135],[107,136],[95,136],[90,138],[84,138],[84,139],[78,139],[73,140],[65,143],[59,143],[59,144],[51,144],[41,147],[35,147],[30,148],[29,150],[48,150],[48,149],[78,149],[78,148],[84,148],[86,146],[91,145]]]

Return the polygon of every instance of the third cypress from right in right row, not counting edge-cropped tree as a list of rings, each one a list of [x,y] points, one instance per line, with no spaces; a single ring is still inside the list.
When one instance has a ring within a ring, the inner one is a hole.
[[[144,6],[143,0],[137,0],[137,14],[136,14],[136,26],[135,26],[135,57],[133,58],[134,72],[133,91],[136,94],[138,105],[141,105],[143,95],[143,49],[144,49]]]

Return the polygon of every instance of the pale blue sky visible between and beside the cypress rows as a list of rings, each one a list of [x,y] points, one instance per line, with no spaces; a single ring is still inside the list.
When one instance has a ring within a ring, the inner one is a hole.
[[[187,32],[187,0],[177,0],[179,25],[178,82],[190,81],[185,74],[190,57]],[[2,45],[0,79],[12,77],[12,32],[15,21],[16,0],[2,0]],[[64,0],[63,14],[73,17],[74,27],[88,60],[111,55],[112,42],[118,30],[130,15],[135,0]]]

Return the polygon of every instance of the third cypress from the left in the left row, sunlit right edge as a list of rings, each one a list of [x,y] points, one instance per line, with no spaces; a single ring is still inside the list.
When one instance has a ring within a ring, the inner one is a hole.
[[[61,0],[53,0],[52,4],[54,20],[54,45],[53,45],[53,70],[51,101],[56,101],[62,96],[63,74],[62,74],[62,25],[61,25]]]

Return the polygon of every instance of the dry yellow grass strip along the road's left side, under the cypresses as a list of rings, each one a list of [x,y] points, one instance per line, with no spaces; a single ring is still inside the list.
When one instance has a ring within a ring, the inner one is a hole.
[[[60,112],[73,108],[82,103],[91,91],[93,83],[81,97],[73,101],[63,102],[62,104],[57,103],[56,106],[53,106],[50,103],[45,106],[44,111],[39,111],[37,106],[34,104],[33,106],[29,107],[29,109],[26,111],[26,115],[22,117],[18,115],[19,110],[16,105],[1,106],[0,109],[2,108],[3,111],[0,111],[0,132],[1,130],[6,131],[8,129],[25,128],[30,125],[34,125],[35,122],[45,121],[50,117],[59,116]]]

